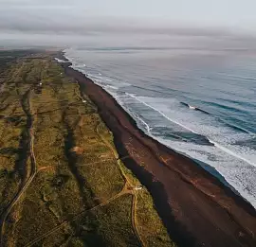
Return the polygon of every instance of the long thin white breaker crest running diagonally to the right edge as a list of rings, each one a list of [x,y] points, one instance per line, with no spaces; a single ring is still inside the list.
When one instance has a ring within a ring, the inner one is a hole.
[[[183,124],[181,124],[181,123],[179,123],[179,122],[173,120],[172,118],[170,118],[169,116],[163,114],[161,111],[159,111],[159,110],[156,109],[155,107],[153,107],[153,106],[151,106],[150,104],[148,104],[148,103],[142,101],[142,100],[139,99],[138,97],[136,97],[136,96],[134,96],[134,95],[132,95],[132,94],[128,94],[128,93],[125,93],[125,94],[126,94],[127,96],[130,96],[130,97],[135,98],[135,99],[136,99],[138,102],[140,102],[141,104],[144,104],[145,106],[147,106],[147,107],[153,109],[154,111],[156,111],[157,113],[159,113],[160,115],[162,115],[163,117],[165,117],[166,119],[168,119],[169,121],[171,121],[171,122],[173,122],[173,123],[175,123],[175,124],[177,124],[177,125],[183,127],[184,129],[186,129],[186,130],[188,130],[188,131],[190,131],[190,132],[193,132],[193,133],[196,133],[196,134],[200,134],[200,133],[198,133],[198,132],[194,132],[191,128],[188,128],[187,126],[185,126],[185,125],[183,125]],[[225,151],[226,153],[229,153],[229,155],[231,155],[231,156],[234,156],[234,157],[236,157],[236,158],[238,158],[238,159],[240,159],[240,160],[243,160],[243,161],[247,162],[247,164],[249,164],[249,165],[251,165],[251,166],[253,166],[253,167],[256,167],[256,164],[253,164],[252,162],[250,162],[250,161],[247,160],[246,158],[241,157],[240,155],[236,154],[236,153],[233,152],[232,150],[229,150],[229,149],[223,147],[222,145],[220,145],[220,144],[218,144],[218,143],[216,143],[216,142],[210,140],[207,136],[206,136],[206,138],[209,140],[209,142],[210,142],[211,144],[214,145],[214,147],[216,147],[216,148],[218,148],[218,149],[220,149],[220,150],[223,150],[223,151]]]

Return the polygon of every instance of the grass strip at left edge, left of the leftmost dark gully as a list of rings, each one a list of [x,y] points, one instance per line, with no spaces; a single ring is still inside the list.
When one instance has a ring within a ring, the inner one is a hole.
[[[27,177],[27,115],[15,77],[19,65],[8,65],[17,56],[0,52],[0,215]]]

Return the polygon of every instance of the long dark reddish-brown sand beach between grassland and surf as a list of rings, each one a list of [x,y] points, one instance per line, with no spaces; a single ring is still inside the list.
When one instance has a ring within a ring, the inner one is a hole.
[[[91,79],[69,67],[82,93],[113,132],[119,157],[150,191],[156,210],[178,246],[255,246],[256,211],[192,159],[160,144]],[[142,165],[142,166],[141,166]]]

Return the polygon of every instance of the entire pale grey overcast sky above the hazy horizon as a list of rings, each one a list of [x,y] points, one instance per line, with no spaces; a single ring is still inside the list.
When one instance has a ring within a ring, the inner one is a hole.
[[[42,33],[256,36],[255,9],[255,0],[0,0],[0,41]]]

